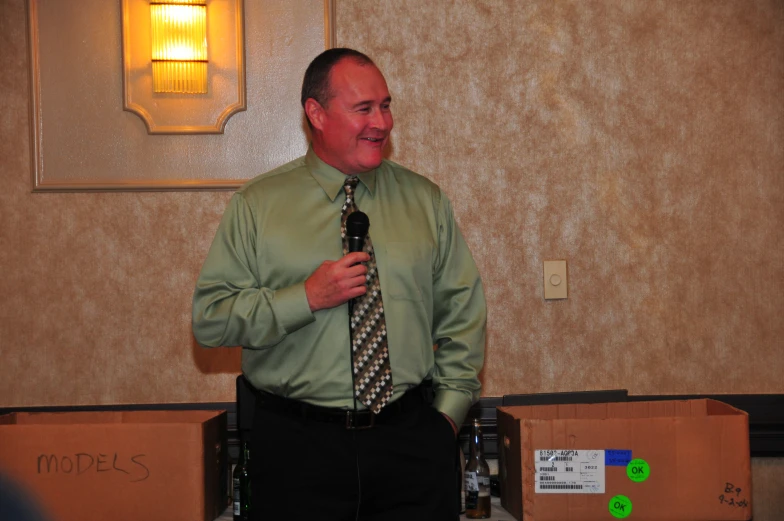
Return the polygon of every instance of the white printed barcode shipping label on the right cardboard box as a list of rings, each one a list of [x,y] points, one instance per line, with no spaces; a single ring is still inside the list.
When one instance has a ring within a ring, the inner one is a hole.
[[[604,494],[604,450],[534,450],[535,492]]]

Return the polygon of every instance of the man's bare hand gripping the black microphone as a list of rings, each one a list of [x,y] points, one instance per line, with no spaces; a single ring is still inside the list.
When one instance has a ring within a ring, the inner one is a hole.
[[[305,281],[305,295],[311,311],[334,308],[367,291],[367,267],[362,262],[370,255],[358,251],[336,261],[324,261]]]

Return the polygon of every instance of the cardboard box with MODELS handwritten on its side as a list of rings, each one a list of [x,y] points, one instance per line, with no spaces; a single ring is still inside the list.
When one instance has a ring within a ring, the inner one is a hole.
[[[56,521],[212,521],[227,507],[225,411],[0,416],[0,472]]]

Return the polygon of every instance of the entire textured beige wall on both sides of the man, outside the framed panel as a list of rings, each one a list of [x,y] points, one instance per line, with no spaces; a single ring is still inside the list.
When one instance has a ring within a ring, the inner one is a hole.
[[[336,26],[475,252],[485,396],[784,392],[783,2],[339,0]],[[189,329],[230,194],[32,194],[23,0],[0,70],[0,406],[232,400],[238,353]]]

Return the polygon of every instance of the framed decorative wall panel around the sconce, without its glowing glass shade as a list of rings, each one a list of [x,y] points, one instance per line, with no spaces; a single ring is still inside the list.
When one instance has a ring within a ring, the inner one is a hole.
[[[215,55],[208,93],[195,95],[153,95],[149,62],[123,54],[146,0],[25,5],[33,192],[234,190],[306,152],[297,92],[310,60],[334,46],[334,0],[208,0],[208,31],[234,28],[210,47],[230,48],[239,72],[227,77]]]

